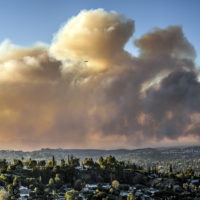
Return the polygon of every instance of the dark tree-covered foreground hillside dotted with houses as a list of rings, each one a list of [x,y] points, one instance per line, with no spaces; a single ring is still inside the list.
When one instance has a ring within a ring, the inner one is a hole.
[[[74,156],[61,160],[0,160],[0,199],[193,199],[200,197],[199,177],[192,169],[160,173],[157,167],[144,170],[114,156],[98,161]],[[23,188],[24,189],[23,189]]]

